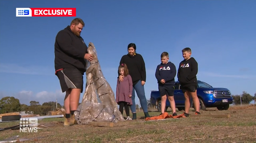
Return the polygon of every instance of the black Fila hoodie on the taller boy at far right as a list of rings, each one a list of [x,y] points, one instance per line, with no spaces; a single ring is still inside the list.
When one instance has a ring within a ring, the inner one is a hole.
[[[194,58],[180,62],[178,80],[182,85],[197,85],[198,64]]]

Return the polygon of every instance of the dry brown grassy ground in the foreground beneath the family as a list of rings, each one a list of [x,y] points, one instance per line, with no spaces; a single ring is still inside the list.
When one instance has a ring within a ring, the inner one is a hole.
[[[63,118],[44,119],[38,122],[46,126],[41,126],[42,129],[38,129],[37,133],[1,131],[0,142],[15,135],[19,135],[19,138],[38,138],[36,142],[256,142],[255,111],[256,106],[232,106],[224,111],[207,108],[201,111],[202,115],[230,115],[230,118],[196,116],[163,121],[137,119],[118,122],[114,127],[63,127]],[[137,114],[137,117],[143,116],[142,112]],[[157,116],[159,112],[151,111],[150,115]],[[13,125],[18,123],[0,123],[0,128]]]

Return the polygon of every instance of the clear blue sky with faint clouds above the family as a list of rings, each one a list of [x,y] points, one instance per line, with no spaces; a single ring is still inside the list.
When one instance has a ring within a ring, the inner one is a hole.
[[[15,17],[16,7],[76,8],[76,17],[86,23],[81,36],[96,46],[114,92],[119,61],[129,43],[137,45],[146,64],[147,99],[158,89],[155,70],[160,54],[167,51],[178,69],[185,47],[192,49],[199,64],[199,80],[232,94],[256,92],[256,1],[6,0],[0,1],[0,98],[14,96],[25,104],[57,98],[63,105],[54,74],[54,42],[75,17]]]

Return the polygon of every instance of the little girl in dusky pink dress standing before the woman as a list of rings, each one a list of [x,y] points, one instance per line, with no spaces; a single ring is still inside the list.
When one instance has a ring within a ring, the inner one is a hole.
[[[116,102],[119,105],[119,111],[123,114],[123,107],[127,116],[126,120],[132,120],[130,118],[129,106],[133,104],[132,102],[132,92],[133,92],[133,81],[132,77],[129,75],[129,71],[125,64],[121,64],[118,68],[121,76],[123,76],[123,81],[120,82],[117,79],[116,86]]]

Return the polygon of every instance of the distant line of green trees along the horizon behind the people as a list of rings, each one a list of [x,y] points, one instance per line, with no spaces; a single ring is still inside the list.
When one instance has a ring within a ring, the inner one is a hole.
[[[251,96],[247,92],[243,92],[240,95],[232,95],[233,104],[248,104],[251,100],[256,100],[256,93]],[[147,100],[148,107],[154,107],[151,104],[151,100]],[[63,105],[57,103],[57,108],[64,108]],[[136,104],[136,109],[139,109],[139,105]],[[47,115],[48,111],[56,110],[56,102],[49,101],[40,104],[38,101],[30,101],[29,105],[20,104],[19,99],[14,97],[4,97],[0,100],[0,113],[8,112],[20,112],[25,111],[26,113],[33,113],[34,115],[44,116]]]

